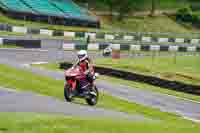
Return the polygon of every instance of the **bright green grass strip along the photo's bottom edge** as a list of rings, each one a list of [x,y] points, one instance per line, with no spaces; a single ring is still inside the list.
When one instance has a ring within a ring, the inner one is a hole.
[[[0,132],[3,133],[198,133],[200,130],[194,123],[177,126],[34,113],[0,113],[0,118]]]

